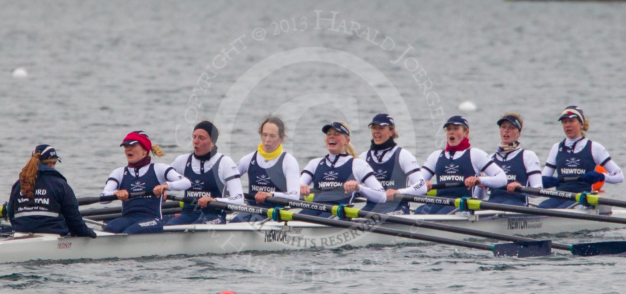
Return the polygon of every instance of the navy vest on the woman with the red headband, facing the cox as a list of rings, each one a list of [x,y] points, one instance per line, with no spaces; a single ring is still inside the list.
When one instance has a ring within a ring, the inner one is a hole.
[[[148,171],[143,176],[135,177],[135,172],[128,167],[124,168],[124,176],[121,179],[118,190],[126,190],[128,193],[152,191],[160,183],[156,178],[154,164],[150,164]],[[161,197],[156,195],[141,196],[121,202],[121,216],[141,216],[145,218],[161,218]]]

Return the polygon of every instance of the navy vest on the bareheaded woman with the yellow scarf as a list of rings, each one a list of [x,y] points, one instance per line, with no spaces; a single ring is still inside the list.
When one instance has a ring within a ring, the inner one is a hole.
[[[248,165],[248,194],[254,196],[257,192],[287,192],[287,179],[282,171],[282,162],[286,152],[280,154],[279,159],[271,167],[264,169],[257,163],[257,154],[254,152]],[[274,208],[276,205],[257,203],[254,199],[248,200],[248,205],[264,208]]]

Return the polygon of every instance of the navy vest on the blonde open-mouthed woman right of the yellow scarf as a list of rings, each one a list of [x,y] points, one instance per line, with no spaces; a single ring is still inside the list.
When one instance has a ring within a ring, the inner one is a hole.
[[[349,155],[348,155],[349,156]],[[348,159],[348,161],[340,167],[335,167],[335,163],[332,162],[331,166],[326,164],[326,160],[329,160],[328,155],[324,159],[320,160],[315,174],[313,175],[313,189],[332,189],[337,187],[343,187],[347,181],[354,180],[354,174],[352,174],[352,162],[354,158]],[[337,155],[335,162],[339,160]],[[340,191],[324,191],[316,192],[313,196],[313,202],[330,202],[334,204],[348,204],[352,201],[352,194],[344,193]]]

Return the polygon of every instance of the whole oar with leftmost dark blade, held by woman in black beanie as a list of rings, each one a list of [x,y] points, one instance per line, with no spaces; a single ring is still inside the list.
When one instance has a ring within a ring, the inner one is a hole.
[[[182,202],[192,202],[192,198],[177,197],[168,195],[168,199]],[[401,231],[398,229],[381,228],[379,226],[372,226],[366,223],[352,223],[349,221],[339,221],[336,219],[319,218],[317,216],[307,216],[305,214],[296,214],[292,211],[284,209],[264,209],[261,207],[244,206],[239,204],[225,203],[220,201],[208,202],[208,206],[214,209],[236,211],[240,213],[259,214],[260,216],[267,216],[275,221],[304,221],[307,223],[323,224],[326,226],[332,226],[336,228],[345,229],[357,229],[364,232],[372,232],[379,234],[386,234],[389,236],[398,236],[402,238],[418,239],[421,241],[443,243],[455,246],[462,246],[466,248],[482,249],[493,252],[495,256],[546,256],[550,255],[550,248],[536,248],[536,243],[518,242],[518,243],[506,243],[506,244],[480,244],[469,241],[460,241],[448,238],[439,238],[435,236],[428,236],[424,234],[411,233],[407,231]],[[546,250],[547,249],[547,250]]]

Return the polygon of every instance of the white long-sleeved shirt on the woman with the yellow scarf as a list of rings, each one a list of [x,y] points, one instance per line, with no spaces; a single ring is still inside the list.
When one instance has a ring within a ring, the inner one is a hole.
[[[252,161],[252,156],[257,153],[257,164],[259,167],[264,169],[269,169],[274,166],[279,158],[265,160],[263,155],[260,155],[258,152],[252,152],[248,155],[242,157],[239,162],[237,162],[237,169],[239,169],[239,174],[244,175],[248,172],[248,168],[250,167],[250,161]],[[274,197],[281,197],[291,200],[299,200],[300,199],[300,167],[298,165],[298,161],[295,158],[287,153],[285,153],[285,157],[282,160],[282,174],[285,176],[285,180],[287,182],[287,192],[274,192]]]

